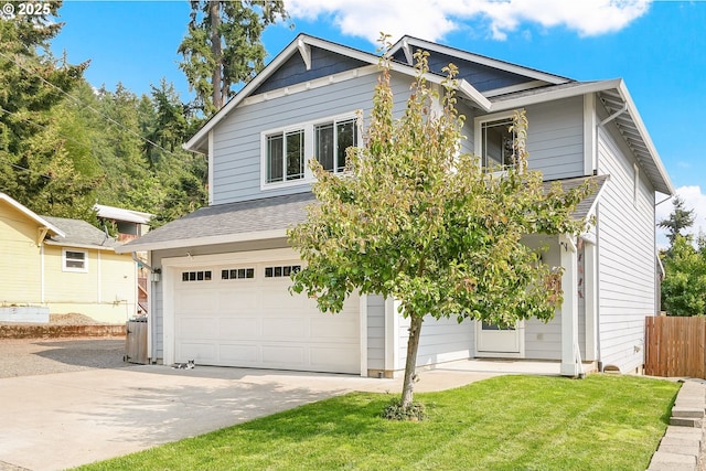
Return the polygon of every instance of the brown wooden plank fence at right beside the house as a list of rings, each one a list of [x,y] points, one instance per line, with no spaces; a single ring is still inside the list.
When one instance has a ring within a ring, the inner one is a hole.
[[[646,318],[644,373],[706,379],[706,318]]]

